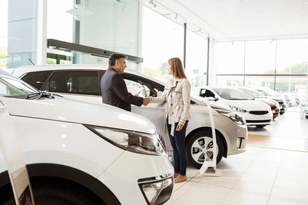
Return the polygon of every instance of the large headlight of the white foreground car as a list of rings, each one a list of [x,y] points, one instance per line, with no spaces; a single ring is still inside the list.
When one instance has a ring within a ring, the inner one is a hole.
[[[111,144],[139,154],[167,156],[157,136],[113,128],[85,125],[89,130]]]

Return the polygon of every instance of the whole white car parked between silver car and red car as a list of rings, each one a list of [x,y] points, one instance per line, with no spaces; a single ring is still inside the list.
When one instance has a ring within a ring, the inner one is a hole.
[[[255,125],[257,128],[264,128],[273,123],[273,113],[270,106],[255,100],[239,89],[203,86],[192,89],[192,94],[201,98],[213,97],[211,103],[241,114],[245,118],[247,126]]]

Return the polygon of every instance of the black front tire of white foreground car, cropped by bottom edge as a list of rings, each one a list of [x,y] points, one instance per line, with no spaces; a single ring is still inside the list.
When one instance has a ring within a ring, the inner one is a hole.
[[[40,177],[39,180],[31,180],[35,205],[105,204],[97,195],[79,184],[67,180],[46,179],[48,178]],[[15,205],[14,196],[11,195],[3,205]]]

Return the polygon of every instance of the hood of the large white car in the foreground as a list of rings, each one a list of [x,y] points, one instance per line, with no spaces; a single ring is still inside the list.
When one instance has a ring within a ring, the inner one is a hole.
[[[22,100],[0,97],[10,115],[88,124],[154,134],[155,125],[147,118],[107,104],[84,102],[66,97]],[[48,125],[47,125],[48,126]]]

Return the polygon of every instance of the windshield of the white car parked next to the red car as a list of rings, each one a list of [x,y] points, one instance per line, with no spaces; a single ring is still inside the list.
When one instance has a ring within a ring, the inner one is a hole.
[[[246,93],[238,89],[220,88],[214,89],[218,95],[226,100],[254,100]]]

